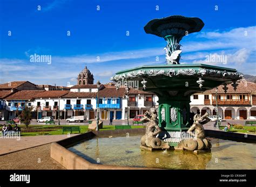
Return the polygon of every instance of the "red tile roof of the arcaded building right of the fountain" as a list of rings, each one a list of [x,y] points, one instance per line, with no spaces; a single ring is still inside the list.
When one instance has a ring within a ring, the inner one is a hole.
[[[256,91],[256,84],[252,82],[240,81],[240,83],[238,83],[237,90],[234,90],[231,84],[227,84],[227,93],[251,93],[252,91]],[[219,85],[218,93],[224,93],[223,87],[224,85]],[[205,92],[215,93],[215,88]]]

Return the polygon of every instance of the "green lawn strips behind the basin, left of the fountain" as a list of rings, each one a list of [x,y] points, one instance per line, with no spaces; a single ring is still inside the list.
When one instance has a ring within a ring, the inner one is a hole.
[[[62,128],[60,127],[70,127],[71,125],[29,125],[30,128],[33,129],[40,129],[43,130],[44,128],[52,128],[53,131],[42,131],[42,132],[22,132],[22,136],[35,136],[35,135],[59,135],[62,134]],[[73,125],[72,125],[73,126]],[[80,127],[80,133],[85,133],[88,131],[88,125],[74,125],[74,126],[79,126]],[[20,125],[19,127],[23,128],[25,125]],[[54,128],[58,127],[58,128]],[[131,126],[132,128],[145,128],[145,126],[142,125],[136,125],[136,126]],[[114,130],[114,125],[103,125],[103,128],[100,129],[100,131],[105,131],[105,130]],[[64,132],[64,134],[68,134],[69,132]],[[75,132],[78,133],[78,132]],[[74,133],[73,133],[74,134]]]

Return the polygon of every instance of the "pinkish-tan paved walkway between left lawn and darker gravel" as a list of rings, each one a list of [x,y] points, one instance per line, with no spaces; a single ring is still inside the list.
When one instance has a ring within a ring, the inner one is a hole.
[[[78,134],[70,134],[75,136]],[[0,137],[0,156],[19,150],[28,149],[36,146],[42,146],[51,142],[68,138],[67,134],[63,135],[44,135],[44,136],[19,136],[16,138]]]

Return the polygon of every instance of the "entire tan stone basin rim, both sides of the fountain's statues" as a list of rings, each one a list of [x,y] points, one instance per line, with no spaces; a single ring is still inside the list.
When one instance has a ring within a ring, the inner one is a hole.
[[[72,136],[70,138],[60,140],[51,143],[51,157],[56,160],[66,169],[157,169],[157,168],[136,168],[136,167],[125,167],[125,166],[110,166],[105,164],[93,164],[77,154],[71,152],[67,148],[76,145],[80,141],[92,139],[96,135],[116,135],[126,133],[142,133],[145,134],[145,128],[133,128],[129,130],[110,130],[110,131],[93,131],[84,134]],[[205,130],[206,136],[213,138],[221,138],[227,140],[241,141],[241,142],[254,142],[256,141],[256,135],[222,131]]]

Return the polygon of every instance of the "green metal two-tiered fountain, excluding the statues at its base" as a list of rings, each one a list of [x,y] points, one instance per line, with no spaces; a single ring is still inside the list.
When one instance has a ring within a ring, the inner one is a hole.
[[[139,81],[139,89],[156,93],[158,103],[158,125],[168,132],[165,139],[170,146],[177,146],[181,141],[181,133],[191,125],[190,96],[223,84],[232,83],[236,88],[237,80],[242,75],[237,70],[210,66],[208,64],[180,64],[180,44],[185,35],[199,32],[204,23],[199,18],[170,16],[153,19],[144,27],[146,33],[157,35],[167,41],[167,64],[156,66],[140,66],[118,71],[111,77],[114,82]]]

